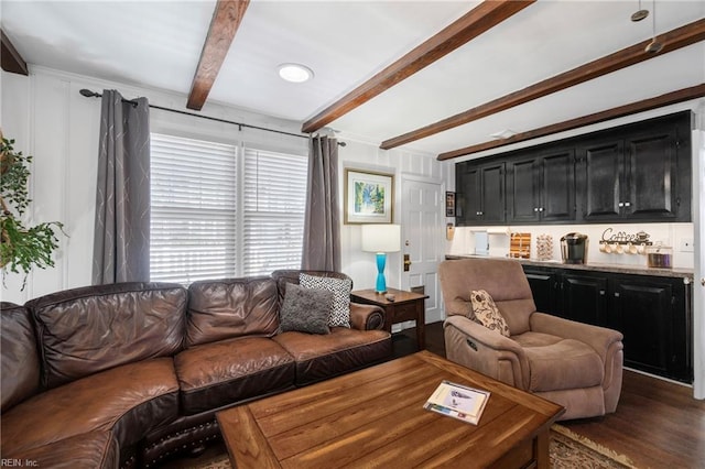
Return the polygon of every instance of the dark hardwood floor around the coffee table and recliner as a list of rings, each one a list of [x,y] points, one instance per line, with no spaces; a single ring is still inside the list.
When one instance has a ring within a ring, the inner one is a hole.
[[[411,328],[393,335],[394,357],[417,350],[415,334]],[[443,323],[426,325],[425,348],[445,357]],[[705,401],[693,399],[688,386],[625,370],[616,413],[561,424],[628,456],[638,468],[705,468]],[[221,444],[208,450],[223,452]],[[193,468],[203,459],[183,458],[162,467]]]

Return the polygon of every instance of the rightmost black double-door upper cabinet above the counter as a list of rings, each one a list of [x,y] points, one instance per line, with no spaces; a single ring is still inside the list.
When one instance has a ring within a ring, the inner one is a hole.
[[[584,221],[691,220],[691,113],[600,132],[577,146]]]

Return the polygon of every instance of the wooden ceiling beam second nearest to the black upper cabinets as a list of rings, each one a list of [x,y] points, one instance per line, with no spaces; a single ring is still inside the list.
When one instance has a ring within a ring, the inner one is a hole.
[[[615,52],[614,54],[589,62],[585,65],[581,65],[572,70],[539,81],[519,91],[511,92],[476,108],[440,120],[435,123],[386,140],[382,142],[380,148],[383,150],[393,149],[445,130],[466,124],[474,120],[501,112],[509,108],[523,105],[543,96],[570,88],[574,85],[598,78],[603,75],[657,57],[660,54],[665,54],[681,47],[695,44],[705,40],[705,19],[694,21],[684,26],[660,34],[657,36],[657,40],[663,44],[663,50],[659,54],[644,51],[651,40],[640,42],[627,48],[622,48],[621,51]]]

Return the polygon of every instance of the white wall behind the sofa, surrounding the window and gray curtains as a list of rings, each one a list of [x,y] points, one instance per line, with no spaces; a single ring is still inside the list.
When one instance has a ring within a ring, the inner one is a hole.
[[[172,109],[185,109],[186,96],[156,89],[108,83],[90,77],[31,67],[24,77],[2,72],[1,120],[7,138],[15,139],[15,149],[34,156],[31,167],[31,205],[29,221],[62,221],[68,237],[59,237],[53,269],[33,270],[22,291],[22,277],[7,275],[2,299],[24,303],[28,299],[65,288],[90,284],[93,265],[93,227],[97,172],[100,100],[79,95],[82,88],[94,91],[118,89],[126,98],[145,96],[150,103]],[[232,107],[207,103],[205,116],[243,122],[270,129],[300,133],[301,123],[257,114]],[[237,126],[214,122],[189,116],[151,110],[151,130],[178,132],[192,138],[213,138],[232,142],[245,140],[264,144],[272,150],[307,153],[307,140],[279,135]],[[400,200],[402,173],[440,177],[444,165],[434,155],[402,150],[382,151],[378,144],[338,135],[347,142],[339,149],[340,209],[343,209],[344,167],[376,168],[395,177],[395,214],[403,209]],[[356,287],[373,286],[377,272],[375,259],[360,251],[359,226],[341,227],[343,271]],[[389,258],[390,285],[400,284],[400,254]]]

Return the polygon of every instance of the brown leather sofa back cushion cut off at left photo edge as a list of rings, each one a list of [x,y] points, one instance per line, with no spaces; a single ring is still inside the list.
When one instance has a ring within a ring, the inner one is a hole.
[[[40,358],[30,312],[24,306],[0,305],[2,343],[2,412],[36,394],[40,388]]]

